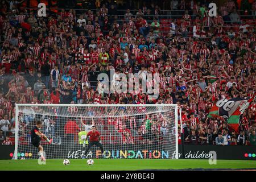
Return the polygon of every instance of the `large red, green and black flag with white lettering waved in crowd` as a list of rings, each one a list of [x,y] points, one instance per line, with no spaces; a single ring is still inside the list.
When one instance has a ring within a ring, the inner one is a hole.
[[[219,100],[212,109],[210,109],[208,118],[222,117],[234,130],[237,131],[243,112],[249,107],[255,98],[256,96]]]

